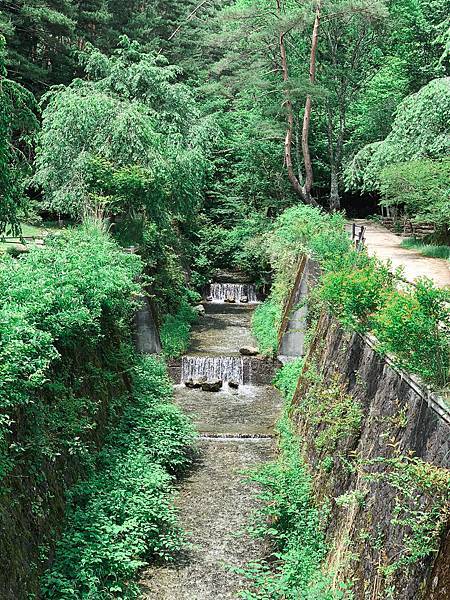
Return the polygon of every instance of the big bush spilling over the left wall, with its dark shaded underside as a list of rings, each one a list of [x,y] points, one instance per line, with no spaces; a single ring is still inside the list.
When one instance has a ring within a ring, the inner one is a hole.
[[[18,595],[37,592],[37,548],[45,558],[66,490],[127,401],[141,269],[96,224],[1,259],[0,545]]]

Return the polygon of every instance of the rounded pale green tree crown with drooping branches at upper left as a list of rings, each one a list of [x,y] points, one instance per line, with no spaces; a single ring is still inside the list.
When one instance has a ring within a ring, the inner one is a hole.
[[[53,212],[153,220],[194,212],[206,171],[207,123],[161,57],[123,38],[110,58],[85,56],[87,80],[43,98],[34,182]]]

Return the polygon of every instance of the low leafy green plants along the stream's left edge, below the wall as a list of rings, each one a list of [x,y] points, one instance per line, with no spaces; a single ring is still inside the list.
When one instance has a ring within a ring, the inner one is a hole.
[[[195,434],[171,402],[165,365],[136,367],[133,397],[97,469],[70,493],[66,530],[42,581],[44,598],[140,598],[133,581],[149,560],[183,547],[173,473],[190,462]]]

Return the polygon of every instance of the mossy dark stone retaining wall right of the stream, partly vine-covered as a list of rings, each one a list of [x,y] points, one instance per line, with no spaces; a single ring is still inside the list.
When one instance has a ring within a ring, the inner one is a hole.
[[[303,353],[302,343],[298,353]],[[307,376],[312,365],[318,379]],[[340,414],[336,409],[342,399],[345,410]],[[322,413],[321,404],[326,407]],[[328,446],[318,442],[326,439],[327,428],[339,431],[340,422],[345,428],[352,410],[361,414],[358,427],[336,434]],[[419,530],[423,515],[433,510],[433,486],[427,489],[425,475],[423,485],[420,476],[417,482],[408,478],[407,468],[397,477],[393,466],[418,458],[431,465],[425,467],[431,477],[433,467],[450,467],[450,413],[444,400],[377,353],[373,338],[344,331],[323,315],[305,357],[292,418],[304,440],[317,502],[330,510],[326,570],[336,581],[352,581],[356,600],[448,600],[445,520],[435,543],[438,552],[423,557],[419,552],[407,560],[414,540],[419,546],[426,540],[426,531],[417,536],[414,528]],[[403,484],[395,484],[396,477],[400,482],[403,477]],[[399,560],[403,564],[391,573],[390,565]]]

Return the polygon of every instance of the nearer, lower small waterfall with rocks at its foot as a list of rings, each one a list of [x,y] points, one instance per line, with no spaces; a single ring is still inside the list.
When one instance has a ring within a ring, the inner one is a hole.
[[[235,381],[244,383],[244,360],[240,356],[183,356],[181,381]]]

